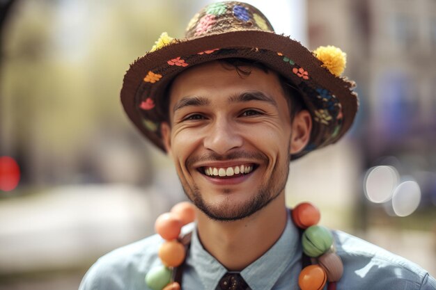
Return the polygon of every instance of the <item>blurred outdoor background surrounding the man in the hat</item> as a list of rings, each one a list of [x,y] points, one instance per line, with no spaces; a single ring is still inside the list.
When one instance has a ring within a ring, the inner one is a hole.
[[[247,0],[246,0],[247,1]],[[119,102],[129,64],[203,0],[1,0],[0,290],[77,289],[184,199]],[[247,1],[309,49],[348,53],[350,133],[290,166],[288,205],[436,275],[436,1]]]

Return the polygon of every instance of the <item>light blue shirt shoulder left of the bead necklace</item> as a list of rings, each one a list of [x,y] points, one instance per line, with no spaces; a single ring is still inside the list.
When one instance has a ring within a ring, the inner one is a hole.
[[[144,277],[159,264],[157,251],[163,239],[157,234],[113,250],[91,266],[79,290],[146,289]]]

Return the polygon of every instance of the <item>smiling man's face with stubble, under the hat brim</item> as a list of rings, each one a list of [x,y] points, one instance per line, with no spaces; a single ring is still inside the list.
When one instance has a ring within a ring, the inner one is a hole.
[[[177,76],[169,98],[162,134],[196,207],[238,220],[284,194],[292,130],[277,74],[241,77],[214,61]]]

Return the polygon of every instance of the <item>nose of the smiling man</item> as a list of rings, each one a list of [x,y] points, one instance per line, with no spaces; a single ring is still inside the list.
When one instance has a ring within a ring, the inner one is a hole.
[[[227,120],[217,120],[206,133],[203,142],[205,148],[217,154],[225,154],[233,148],[241,147],[243,140],[235,124]]]

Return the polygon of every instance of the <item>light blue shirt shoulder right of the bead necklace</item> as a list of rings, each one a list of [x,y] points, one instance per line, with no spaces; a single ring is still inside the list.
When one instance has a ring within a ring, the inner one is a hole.
[[[436,289],[435,279],[411,261],[345,232],[333,234],[344,264],[338,289]]]

